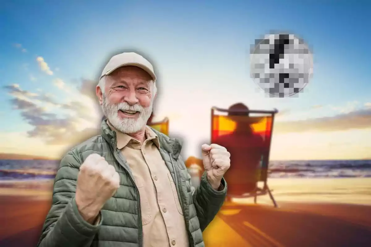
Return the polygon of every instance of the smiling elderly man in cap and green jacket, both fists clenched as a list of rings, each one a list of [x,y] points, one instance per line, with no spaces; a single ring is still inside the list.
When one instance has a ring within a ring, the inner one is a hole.
[[[191,186],[181,144],[146,125],[156,76],[136,53],[113,56],[96,94],[101,135],[62,158],[38,246],[204,246],[224,202],[230,154],[204,144],[205,173]]]

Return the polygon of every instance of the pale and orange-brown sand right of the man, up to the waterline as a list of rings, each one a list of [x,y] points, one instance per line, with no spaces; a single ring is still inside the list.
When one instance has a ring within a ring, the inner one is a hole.
[[[269,196],[225,203],[206,246],[370,246],[370,178],[270,178]]]

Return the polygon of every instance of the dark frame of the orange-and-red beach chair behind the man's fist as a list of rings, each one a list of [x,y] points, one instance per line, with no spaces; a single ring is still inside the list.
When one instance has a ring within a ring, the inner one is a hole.
[[[262,174],[263,176],[260,176],[260,179],[258,180],[258,182],[262,181],[264,184],[263,184],[263,187],[262,188],[259,188],[257,187],[256,188],[256,191],[252,192],[252,193],[247,193],[247,194],[243,194],[242,196],[234,196],[234,197],[242,197],[242,198],[249,198],[249,197],[254,197],[254,203],[257,203],[257,196],[263,196],[263,195],[266,195],[268,194],[269,197],[270,197],[270,200],[272,200],[273,202],[273,205],[274,207],[278,207],[278,204],[275,200],[275,198],[273,197],[273,194],[272,194],[272,191],[273,190],[270,190],[269,187],[268,187],[268,183],[267,183],[267,180],[268,180],[268,167],[269,167],[269,154],[270,154],[270,145],[272,143],[272,135],[273,135],[273,125],[274,125],[274,117],[275,117],[275,114],[278,113],[278,110],[277,109],[274,109],[272,111],[268,111],[268,110],[228,110],[228,109],[221,109],[221,108],[218,108],[218,107],[211,107],[211,132],[210,132],[210,139],[213,137],[213,126],[214,126],[214,116],[219,116],[219,115],[216,115],[215,114],[215,111],[219,111],[219,112],[225,112],[225,113],[236,113],[236,112],[243,112],[243,113],[257,113],[257,114],[270,114],[271,117],[272,117],[272,126],[271,126],[271,133],[270,133],[270,136],[269,136],[269,147],[268,147],[268,153],[266,155],[266,157],[264,157],[263,161],[262,161]],[[211,140],[212,141],[212,140]],[[263,179],[261,179],[263,177]]]

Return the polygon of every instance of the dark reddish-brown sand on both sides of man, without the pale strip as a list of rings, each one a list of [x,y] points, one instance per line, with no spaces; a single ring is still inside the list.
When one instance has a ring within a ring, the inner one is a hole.
[[[0,197],[0,246],[36,246],[50,200]],[[206,246],[370,246],[371,207],[229,203],[204,231]]]

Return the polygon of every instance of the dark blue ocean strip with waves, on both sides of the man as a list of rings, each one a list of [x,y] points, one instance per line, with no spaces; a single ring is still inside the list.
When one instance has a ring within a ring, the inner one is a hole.
[[[59,162],[59,160],[0,160],[0,181],[53,179]],[[269,177],[371,177],[371,160],[270,161]]]

